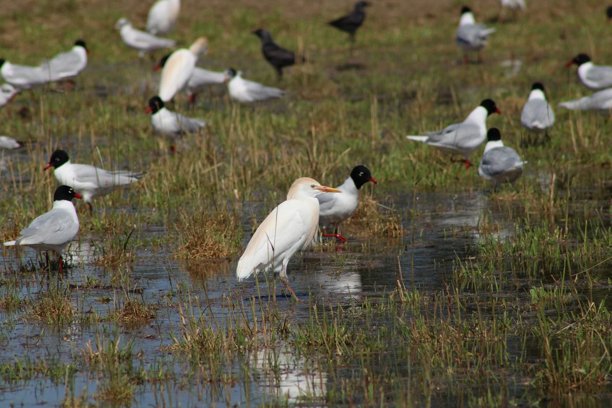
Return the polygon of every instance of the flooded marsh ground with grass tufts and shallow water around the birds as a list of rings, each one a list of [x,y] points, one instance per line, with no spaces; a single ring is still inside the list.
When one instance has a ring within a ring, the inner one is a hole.
[[[349,54],[323,24],[349,3],[182,2],[171,37],[208,37],[202,66],[289,96],[251,108],[222,88],[195,106],[179,95],[174,110],[210,124],[172,154],[144,114],[154,61],[113,30],[122,16],[141,28],[149,4],[3,5],[8,61],[37,64],[81,37],[91,54],[72,92],[24,92],[0,111],[0,132],[31,142],[2,152],[2,240],[50,206],[42,168],[56,147],[147,174],[81,212],[63,281],[30,250],[2,252],[0,403],[610,406],[609,117],[556,109],[538,146],[519,117],[533,81],[553,105],[588,94],[562,65],[581,51],[612,64],[611,27],[596,1],[533,2],[505,23],[497,2],[472,4],[498,32],[483,64],[462,66],[460,6],[376,2]],[[308,63],[278,83],[259,27]],[[487,97],[503,112],[488,124],[529,161],[496,195],[475,168],[404,138]],[[348,243],[289,265],[304,302],[266,276],[237,284],[243,245],[291,182],[337,185],[356,164],[379,184],[362,191]]]

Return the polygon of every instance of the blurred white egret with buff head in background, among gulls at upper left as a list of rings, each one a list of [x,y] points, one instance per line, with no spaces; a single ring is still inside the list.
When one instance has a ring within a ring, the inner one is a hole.
[[[181,48],[170,54],[163,65],[162,78],[159,82],[159,97],[163,102],[168,102],[177,92],[187,87],[198,57],[200,54],[206,54],[207,44],[207,40],[200,37],[188,50]]]

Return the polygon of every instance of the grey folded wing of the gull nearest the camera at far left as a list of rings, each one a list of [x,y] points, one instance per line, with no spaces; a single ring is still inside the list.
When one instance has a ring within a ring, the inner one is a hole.
[[[52,209],[49,212],[35,218],[28,228],[20,232],[20,237],[15,240],[17,245],[62,245],[72,240],[78,232],[78,223],[70,213],[63,209]]]

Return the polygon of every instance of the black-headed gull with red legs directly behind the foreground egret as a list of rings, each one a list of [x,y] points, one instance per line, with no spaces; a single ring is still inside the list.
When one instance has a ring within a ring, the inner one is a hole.
[[[346,242],[346,238],[335,230],[338,228],[338,224],[353,215],[359,203],[359,189],[368,181],[378,184],[366,166],[355,166],[348,179],[342,185],[336,187],[342,194],[324,194],[317,197],[319,200],[321,236],[336,237],[342,242]],[[332,229],[334,233],[327,234],[325,232],[326,228]]]

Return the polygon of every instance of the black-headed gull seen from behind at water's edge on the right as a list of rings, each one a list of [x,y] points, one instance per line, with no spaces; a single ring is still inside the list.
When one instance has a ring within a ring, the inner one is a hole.
[[[512,148],[504,146],[497,128],[490,128],[488,142],[478,166],[478,174],[485,180],[491,180],[493,187],[502,183],[513,184],[523,174],[522,161]]]

